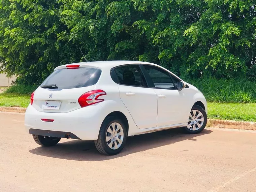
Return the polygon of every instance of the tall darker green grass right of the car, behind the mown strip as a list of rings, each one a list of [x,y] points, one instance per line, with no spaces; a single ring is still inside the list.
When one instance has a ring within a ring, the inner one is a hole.
[[[185,79],[204,94],[208,102],[256,102],[256,79],[230,78],[216,79],[214,77]]]

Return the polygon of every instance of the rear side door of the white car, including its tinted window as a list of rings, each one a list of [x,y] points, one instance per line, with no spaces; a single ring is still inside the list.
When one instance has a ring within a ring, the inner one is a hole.
[[[123,65],[113,69],[120,98],[139,129],[157,126],[157,96],[147,88],[139,65]],[[111,76],[113,75],[111,71]]]

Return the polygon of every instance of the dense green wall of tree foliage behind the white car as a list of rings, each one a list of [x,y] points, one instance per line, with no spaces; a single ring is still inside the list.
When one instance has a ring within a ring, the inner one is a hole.
[[[187,78],[256,76],[256,0],[1,0],[0,71],[140,60]]]

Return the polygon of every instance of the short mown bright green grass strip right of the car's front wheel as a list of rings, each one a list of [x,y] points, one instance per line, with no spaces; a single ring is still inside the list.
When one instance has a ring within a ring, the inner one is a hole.
[[[256,103],[208,102],[208,118],[256,122]]]

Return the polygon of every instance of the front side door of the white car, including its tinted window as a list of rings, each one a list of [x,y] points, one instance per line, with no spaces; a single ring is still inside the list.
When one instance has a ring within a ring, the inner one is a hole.
[[[184,92],[178,91],[174,86],[170,73],[157,66],[143,65],[147,73],[149,86],[155,87],[157,94],[158,113],[157,127],[185,123],[184,115],[187,114],[185,107]]]

